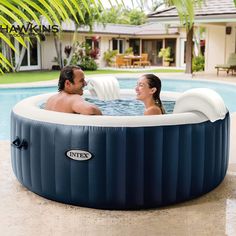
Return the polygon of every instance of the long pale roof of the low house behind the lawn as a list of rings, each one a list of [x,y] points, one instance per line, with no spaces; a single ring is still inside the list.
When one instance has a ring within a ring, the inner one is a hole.
[[[75,25],[72,21],[69,23],[62,23],[63,31],[74,31]],[[89,33],[88,26],[81,26],[78,32]],[[127,36],[148,36],[148,35],[166,35],[178,34],[178,28],[170,28],[167,30],[164,24],[160,23],[147,23],[143,25],[126,25],[126,24],[95,24],[92,32],[94,34],[114,34],[114,35],[127,35]]]

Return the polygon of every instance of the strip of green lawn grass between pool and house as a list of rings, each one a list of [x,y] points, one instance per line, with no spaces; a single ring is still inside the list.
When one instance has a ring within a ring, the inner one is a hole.
[[[130,70],[96,70],[96,71],[85,71],[85,75],[96,75],[96,74],[124,74],[124,73],[165,73],[165,72],[183,72],[183,70],[175,69],[152,69],[145,71],[130,71]],[[27,82],[38,82],[58,79],[60,71],[25,71],[17,73],[6,73],[0,75],[0,84],[13,84],[13,83],[27,83]]]

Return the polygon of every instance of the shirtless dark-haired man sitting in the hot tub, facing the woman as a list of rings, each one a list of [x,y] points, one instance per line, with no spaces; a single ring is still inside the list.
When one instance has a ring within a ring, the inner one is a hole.
[[[45,109],[83,115],[102,115],[97,106],[86,102],[81,97],[83,87],[86,85],[84,72],[79,67],[64,67],[58,82],[59,93],[47,100]]]

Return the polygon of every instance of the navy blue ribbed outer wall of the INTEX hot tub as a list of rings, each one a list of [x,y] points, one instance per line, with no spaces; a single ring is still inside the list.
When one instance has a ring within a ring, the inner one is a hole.
[[[29,190],[56,201],[105,209],[173,204],[214,189],[229,154],[223,120],[159,127],[59,125],[11,116],[12,167]],[[26,146],[20,146],[22,141]],[[68,150],[92,154],[68,158]]]

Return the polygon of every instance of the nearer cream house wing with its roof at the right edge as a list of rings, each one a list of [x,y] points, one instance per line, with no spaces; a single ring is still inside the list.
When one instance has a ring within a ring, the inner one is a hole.
[[[170,7],[149,15],[150,22],[180,26],[177,10]],[[236,51],[236,7],[233,0],[206,0],[195,9],[195,27],[205,28],[205,72],[215,73],[216,64],[224,64],[230,53]],[[182,28],[182,30],[185,30]],[[183,59],[186,36],[177,44]],[[181,60],[181,59],[180,59]],[[180,66],[180,64],[177,64]]]

